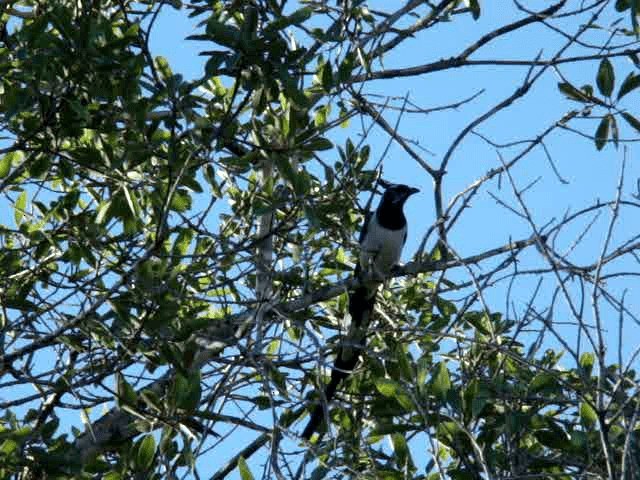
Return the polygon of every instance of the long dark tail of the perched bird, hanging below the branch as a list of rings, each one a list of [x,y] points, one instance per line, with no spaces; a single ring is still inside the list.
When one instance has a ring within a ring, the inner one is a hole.
[[[334,368],[331,370],[331,379],[324,390],[327,404],[335,395],[340,382],[349,376],[360,359],[362,349],[365,346],[367,326],[373,314],[376,291],[377,285],[375,287],[361,286],[349,292],[349,314],[351,315],[351,331],[347,339],[349,345],[343,345],[338,350]],[[316,405],[311,412],[309,423],[302,431],[302,438],[309,440],[322,423],[323,418],[323,406]]]

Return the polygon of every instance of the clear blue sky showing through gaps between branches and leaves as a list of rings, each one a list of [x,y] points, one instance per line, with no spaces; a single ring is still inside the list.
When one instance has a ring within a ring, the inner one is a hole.
[[[385,68],[402,68],[448,58],[461,52],[484,33],[521,17],[521,14],[515,12],[510,2],[485,1],[481,3],[483,12],[478,21],[474,21],[470,15],[460,16],[452,22],[442,23],[427,33],[406,41],[397,52],[385,57]],[[369,2],[369,5],[372,9],[389,9],[389,2],[384,1]],[[546,6],[548,6],[546,1],[527,2],[527,7],[531,9]],[[607,27],[618,17],[610,12],[603,18],[601,25]],[[563,23],[565,26],[575,29],[572,21],[567,19]],[[155,55],[165,56],[174,72],[182,73],[188,79],[200,77],[206,61],[205,57],[198,56],[199,50],[203,49],[201,44],[184,40],[186,36],[199,32],[195,28],[196,22],[197,20],[188,19],[184,12],[166,7],[158,19],[151,39],[152,52]],[[623,17],[623,24],[628,24],[626,16]],[[584,38],[596,43],[601,41],[606,34],[606,30],[594,30],[586,34]],[[513,36],[509,35],[492,42],[474,54],[472,58],[475,60],[530,60],[539,52],[542,52],[542,58],[550,58],[564,42],[565,39],[561,35],[537,24],[516,32]],[[567,55],[583,55],[585,52],[584,48],[572,47]],[[592,51],[587,52],[593,53]],[[598,61],[588,61],[574,65],[563,65],[559,71],[576,85],[595,84],[598,63]],[[617,75],[616,85],[620,84],[627,73],[635,69],[626,57],[615,59],[613,64]],[[379,65],[376,66],[376,69],[379,68]],[[484,90],[475,100],[456,110],[435,112],[428,116],[405,114],[402,117],[399,131],[405,137],[415,140],[422,147],[433,152],[433,155],[425,154],[424,158],[433,166],[437,166],[460,130],[487,109],[510,95],[520,85],[526,73],[527,67],[523,66],[464,67],[418,77],[371,82],[365,91],[380,95],[394,95],[400,98],[407,95],[415,104],[423,108],[433,108],[457,102]],[[534,85],[530,95],[483,123],[477,131],[498,143],[534,138],[549,125],[558,121],[570,109],[579,107],[577,103],[566,99],[558,91],[556,84],[559,79],[559,75],[550,69]],[[629,108],[633,112],[638,105],[638,95],[640,95],[640,90],[629,94],[621,106]],[[401,103],[401,101],[397,101],[395,105]],[[636,110],[636,113],[640,114],[640,111]],[[389,123],[395,124],[397,115],[397,112],[387,112],[385,118]],[[583,126],[585,132],[592,134],[597,126],[597,120],[580,119],[573,125]],[[620,123],[620,128],[622,138],[637,137],[637,133],[627,125]],[[336,144],[343,144],[348,136],[354,141],[358,140],[357,135],[358,122],[352,121],[348,129],[333,132],[330,138]],[[387,141],[386,134],[374,128],[373,134],[367,139],[367,143],[372,148],[372,161],[375,162],[380,158],[386,148]],[[558,222],[567,212],[587,207],[597,199],[604,202],[614,198],[624,155],[622,147],[616,149],[612,144],[608,144],[598,152],[592,140],[562,130],[551,134],[546,146],[559,174],[568,182],[567,184],[558,179],[541,148],[536,148],[527,155],[513,170],[519,187],[539,179],[525,195],[527,206],[532,211],[538,225],[546,224],[553,219]],[[623,198],[632,201],[634,200],[632,194],[637,193],[636,182],[640,178],[640,166],[636,159],[636,144],[629,143],[627,146]],[[501,153],[508,161],[523,147],[521,144],[516,145],[503,149]],[[336,151],[327,151],[323,153],[323,158],[327,161],[334,161],[338,158],[338,154]],[[422,190],[419,195],[409,201],[406,208],[410,222],[410,236],[405,248],[404,259],[408,261],[415,252],[422,235],[435,220],[432,181],[427,172],[395,143],[389,149],[383,164],[385,178],[417,186]],[[448,168],[444,183],[445,204],[457,192],[464,189],[487,170],[499,165],[498,155],[493,147],[487,145],[477,136],[467,136],[455,151]],[[504,176],[501,182],[496,179],[481,191],[452,230],[450,242],[460,255],[477,254],[483,250],[503,245],[512,239],[519,240],[531,235],[531,228],[527,222],[498,205],[495,198],[499,198],[509,205],[515,205],[511,187]],[[597,260],[609,219],[610,212],[603,210],[585,241],[572,254],[572,259],[575,262],[586,264]],[[633,235],[634,230],[637,229],[638,220],[638,213],[635,210],[623,209],[613,235],[614,246]],[[212,221],[215,222],[215,218]],[[558,250],[562,251],[568,247],[588,221],[589,219],[583,219],[567,228],[558,239]],[[492,263],[488,265],[492,265]],[[519,266],[527,268],[527,266],[539,265],[541,265],[540,256],[535,251],[530,251],[523,255]],[[611,268],[614,267],[615,270],[620,271],[638,271],[637,264],[631,262],[617,264]],[[449,278],[465,279],[468,277],[464,271],[453,271]],[[529,301],[536,281],[537,278],[531,276],[521,278],[516,282],[512,291],[516,311],[521,310]],[[640,297],[637,287],[629,284],[628,278],[610,280],[608,286],[618,294],[623,289],[629,289],[626,297],[627,305],[632,311],[638,311],[637,299]],[[552,278],[545,279],[541,293],[543,300],[545,297],[548,298],[554,287]],[[505,289],[506,285],[503,283],[486,292],[490,306],[497,311],[505,310]],[[544,304],[544,301],[541,303]],[[606,318],[610,321],[610,324],[606,325],[606,337],[611,345],[611,355],[614,355],[618,342],[617,316],[611,308],[605,309],[605,313]],[[560,304],[556,310],[556,316],[560,318],[563,315],[568,316],[569,311],[566,305]],[[571,344],[575,342],[576,330],[574,326],[561,326],[559,331],[568,342]],[[624,338],[623,350],[625,355],[629,355],[640,343],[638,342],[640,339],[638,326],[628,325]],[[553,339],[549,339],[549,342],[553,347],[559,346],[558,342]],[[571,365],[571,362],[568,361],[568,364]],[[96,411],[92,416],[99,417],[102,413]],[[70,418],[69,421],[77,424],[77,415],[74,413],[73,418]],[[248,443],[252,438],[242,433],[235,435],[236,441],[241,444]],[[237,445],[230,444],[229,450],[223,453],[231,455],[236,448]],[[266,452],[252,458],[250,463],[252,468],[264,461],[265,455]],[[222,463],[223,460],[220,461]],[[216,465],[212,465],[211,471],[215,469]],[[254,474],[259,476],[257,468]]]

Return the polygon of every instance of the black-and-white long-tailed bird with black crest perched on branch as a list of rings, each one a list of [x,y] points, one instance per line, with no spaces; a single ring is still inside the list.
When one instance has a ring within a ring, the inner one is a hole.
[[[347,339],[338,348],[331,370],[331,378],[324,389],[324,398],[330,402],[338,385],[355,368],[365,345],[366,328],[370,323],[378,287],[398,265],[402,249],[407,241],[407,219],[404,204],[420,190],[403,184],[381,182],[385,186],[382,199],[375,212],[365,215],[360,229],[360,255],[354,276],[359,285],[349,291],[349,315],[351,323]],[[322,423],[324,410],[316,405],[302,438],[309,440]]]

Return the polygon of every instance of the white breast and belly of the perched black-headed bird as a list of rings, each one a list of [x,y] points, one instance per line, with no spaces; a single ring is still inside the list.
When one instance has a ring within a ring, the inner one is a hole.
[[[391,267],[397,265],[402,255],[402,247],[407,233],[407,226],[400,230],[389,230],[381,227],[374,214],[369,220],[367,234],[360,246],[360,266],[367,271],[373,264],[378,276],[386,277]]]

